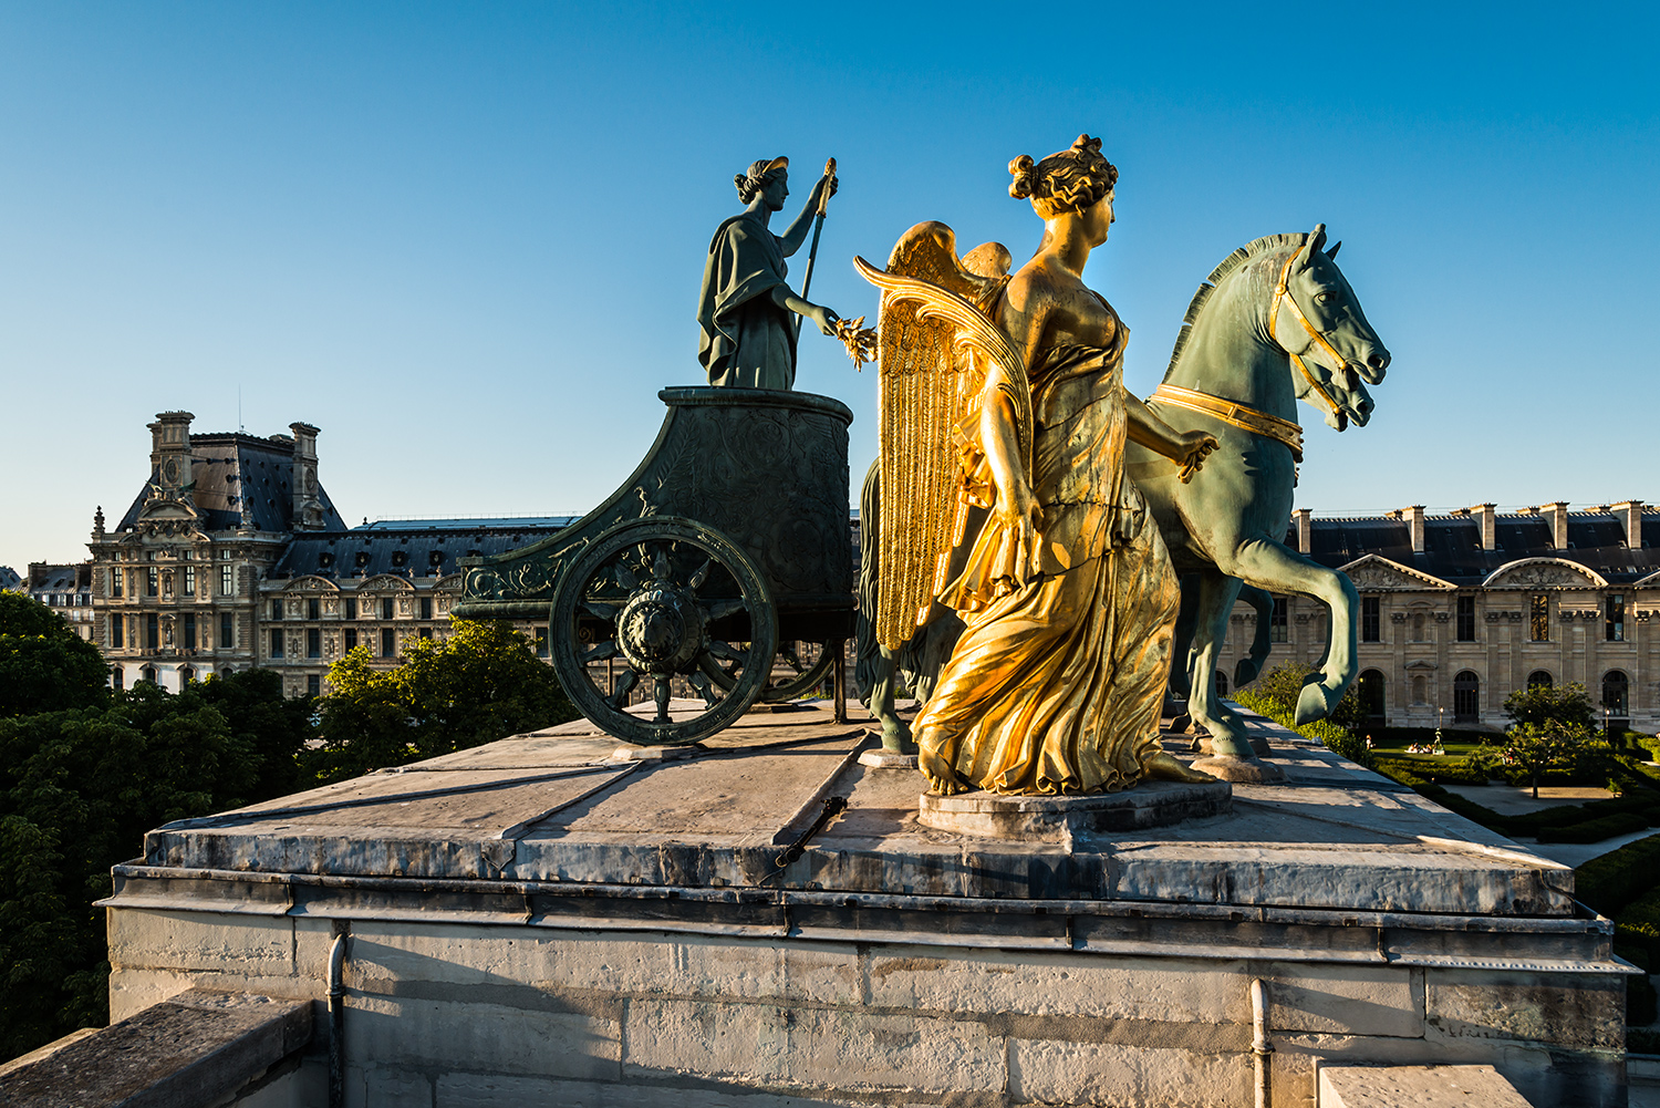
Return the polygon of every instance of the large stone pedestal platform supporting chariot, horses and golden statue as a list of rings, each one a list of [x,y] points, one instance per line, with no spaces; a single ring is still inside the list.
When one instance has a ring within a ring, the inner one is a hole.
[[[1635,970],[1565,865],[1275,729],[1286,781],[1232,809],[963,834],[860,764],[868,726],[755,714],[621,762],[576,723],[161,827],[105,902],[113,1015],[322,1002],[345,930],[349,1103],[1169,1108],[1252,1103],[1262,982],[1275,1105],[1325,1063],[1625,1103]],[[325,1058],[271,1098],[325,1103]]]

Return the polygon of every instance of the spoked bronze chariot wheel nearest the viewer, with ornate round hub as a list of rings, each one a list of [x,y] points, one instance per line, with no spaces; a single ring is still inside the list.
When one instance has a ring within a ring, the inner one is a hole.
[[[681,517],[646,517],[599,535],[559,578],[549,620],[553,669],[589,721],[626,743],[697,743],[760,696],[779,643],[772,593],[720,532]],[[591,676],[611,661],[609,689]],[[715,676],[719,674],[719,676]],[[704,701],[672,719],[676,678]],[[656,711],[624,711],[642,684]]]

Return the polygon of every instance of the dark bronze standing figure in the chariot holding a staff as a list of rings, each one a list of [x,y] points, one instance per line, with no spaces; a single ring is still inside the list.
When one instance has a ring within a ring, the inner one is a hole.
[[[697,301],[702,329],[697,360],[709,384],[734,389],[790,389],[795,384],[797,316],[813,321],[822,334],[837,336],[838,316],[790,292],[785,257],[795,254],[807,233],[823,226],[825,204],[837,191],[835,159],[813,184],[802,214],[780,236],[769,228],[772,213],[784,211],[790,194],[790,159],[755,161],[734,178],[744,211],[715,231],[704,262]],[[813,234],[813,249],[818,236]],[[812,281],[813,259],[807,259]]]

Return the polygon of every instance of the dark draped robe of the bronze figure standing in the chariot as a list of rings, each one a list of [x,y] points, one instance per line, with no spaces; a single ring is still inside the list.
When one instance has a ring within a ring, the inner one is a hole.
[[[697,360],[709,384],[735,389],[788,389],[795,384],[795,322],[772,301],[784,281],[784,246],[750,213],[715,231],[697,301],[702,337]]]

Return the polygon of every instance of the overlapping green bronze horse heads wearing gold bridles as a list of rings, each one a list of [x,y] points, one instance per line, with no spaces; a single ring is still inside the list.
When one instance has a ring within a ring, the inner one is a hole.
[[[1321,409],[1336,430],[1365,427],[1371,394],[1389,365],[1389,351],[1371,329],[1355,289],[1338,269],[1338,243],[1330,251],[1326,224],[1316,224],[1280,269],[1268,309],[1268,331],[1290,355],[1296,397]]]

